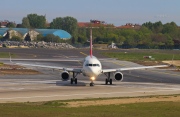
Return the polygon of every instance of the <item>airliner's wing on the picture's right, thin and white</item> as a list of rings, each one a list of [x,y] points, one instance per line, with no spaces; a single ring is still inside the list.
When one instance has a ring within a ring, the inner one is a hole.
[[[150,69],[158,67],[168,67],[168,65],[157,65],[157,66],[143,66],[143,67],[129,67],[129,68],[117,68],[117,69],[103,69],[103,73],[107,72],[117,72],[117,71],[127,71],[127,70],[137,70],[137,69]]]

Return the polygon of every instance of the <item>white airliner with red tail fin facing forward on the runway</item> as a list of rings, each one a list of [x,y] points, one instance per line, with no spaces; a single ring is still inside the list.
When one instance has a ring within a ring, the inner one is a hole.
[[[112,85],[112,79],[110,78],[110,73],[114,74],[114,78],[117,81],[123,80],[123,74],[121,71],[125,70],[135,70],[135,69],[148,69],[148,68],[156,68],[156,67],[167,67],[167,65],[158,65],[158,66],[144,66],[144,67],[131,67],[131,68],[118,68],[118,69],[102,69],[101,62],[92,54],[92,30],[90,36],[90,55],[84,59],[84,63],[82,68],[65,68],[65,67],[55,67],[55,66],[45,66],[45,65],[33,65],[33,64],[23,64],[23,63],[15,63],[17,65],[25,65],[25,66],[34,66],[34,67],[43,67],[50,69],[59,69],[63,70],[61,73],[61,78],[63,81],[67,81],[70,79],[70,72],[73,73],[73,78],[71,78],[70,83],[77,84],[77,75],[83,74],[86,77],[89,77],[91,80],[90,86],[94,86],[94,80],[100,75],[105,74],[107,78],[105,79],[105,84],[108,83]]]

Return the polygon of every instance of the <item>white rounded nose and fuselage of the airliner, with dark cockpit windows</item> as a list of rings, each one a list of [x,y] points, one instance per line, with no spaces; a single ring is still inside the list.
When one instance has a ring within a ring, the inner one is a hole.
[[[96,78],[102,73],[102,65],[95,56],[87,56],[84,59],[82,74],[88,77]]]

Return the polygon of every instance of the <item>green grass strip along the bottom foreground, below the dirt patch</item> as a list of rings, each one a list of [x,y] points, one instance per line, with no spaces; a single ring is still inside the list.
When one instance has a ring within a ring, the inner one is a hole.
[[[0,104],[2,117],[177,117],[180,102],[65,107],[64,102]]]

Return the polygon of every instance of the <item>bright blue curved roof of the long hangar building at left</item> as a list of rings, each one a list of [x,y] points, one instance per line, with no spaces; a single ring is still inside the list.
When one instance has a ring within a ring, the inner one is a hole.
[[[15,30],[19,32],[22,35],[25,35],[29,32],[27,28],[0,28],[0,35],[3,36],[8,30]],[[33,29],[34,31],[42,34],[43,36],[46,36],[48,34],[53,34],[55,36],[59,36],[61,39],[70,39],[71,35],[64,30],[58,30],[58,29]]]

